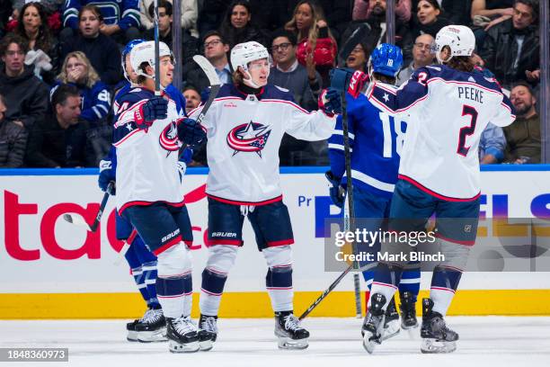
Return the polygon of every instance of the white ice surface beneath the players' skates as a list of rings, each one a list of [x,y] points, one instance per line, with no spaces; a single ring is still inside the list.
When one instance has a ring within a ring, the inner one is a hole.
[[[208,353],[171,354],[166,343],[125,340],[126,320],[0,321],[0,347],[66,347],[68,363],[0,363],[17,366],[178,366],[178,367],[413,367],[549,366],[550,318],[455,317],[457,352],[421,354],[418,330],[396,336],[368,355],[361,345],[361,320],[307,318],[311,332],[305,351],[281,351],[271,319],[221,319],[220,334]]]

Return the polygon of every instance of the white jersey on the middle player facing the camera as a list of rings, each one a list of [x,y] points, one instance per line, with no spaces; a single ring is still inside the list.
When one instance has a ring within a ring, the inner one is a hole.
[[[191,119],[201,109],[191,111]],[[284,133],[296,139],[328,139],[335,122],[322,111],[306,112],[277,86],[266,85],[254,95],[223,85],[202,122],[208,138],[208,196],[248,205],[281,200],[279,147]]]

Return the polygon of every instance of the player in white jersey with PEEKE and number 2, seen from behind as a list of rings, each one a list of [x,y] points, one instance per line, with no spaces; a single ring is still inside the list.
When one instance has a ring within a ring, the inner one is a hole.
[[[371,103],[390,113],[407,113],[409,121],[389,229],[423,231],[435,213],[436,237],[445,256],[434,268],[430,298],[422,300],[422,353],[449,353],[457,347],[458,335],[446,326],[444,318],[477,233],[479,139],[489,121],[503,127],[515,120],[501,87],[475,69],[471,61],[474,49],[475,37],[469,28],[444,27],[436,37],[440,65],[417,69],[396,91],[375,82],[367,92]],[[410,250],[406,247],[383,245],[383,251]],[[369,353],[381,342],[384,312],[403,265],[377,265],[363,340]]]

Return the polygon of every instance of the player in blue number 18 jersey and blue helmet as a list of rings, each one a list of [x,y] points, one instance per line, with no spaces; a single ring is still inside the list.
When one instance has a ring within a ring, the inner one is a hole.
[[[395,75],[402,64],[403,56],[399,47],[387,43],[380,44],[370,57],[370,80],[381,80],[394,85]],[[360,85],[354,85],[354,87],[360,88]],[[384,219],[389,217],[406,123],[368,102],[364,94],[358,93],[357,98],[354,98],[352,94],[347,93],[346,99],[355,211],[351,215],[356,218],[356,228],[375,232],[380,228],[386,229]],[[342,188],[347,187],[348,182],[348,178],[345,177],[343,150],[342,116],[339,116],[335,133],[329,139],[331,171],[326,174],[333,184],[331,198],[339,207],[344,204]],[[375,246],[369,245],[371,244],[357,243],[358,252],[377,254],[380,250],[379,241]],[[375,263],[365,262],[359,265],[361,267],[370,265],[370,270],[363,272],[370,290]],[[404,329],[418,326],[415,303],[420,289],[420,269],[410,266],[412,269],[404,272],[402,282],[399,283],[401,326]],[[367,299],[370,299],[368,292]],[[399,314],[395,309],[395,300],[392,299],[386,309],[383,338],[395,336],[398,332]]]

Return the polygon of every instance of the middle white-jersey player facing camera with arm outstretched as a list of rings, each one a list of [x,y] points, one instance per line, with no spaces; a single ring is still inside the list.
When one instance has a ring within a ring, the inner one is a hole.
[[[200,290],[200,349],[217,338],[217,311],[227,274],[243,246],[248,217],[268,264],[266,288],[275,312],[279,348],[307,347],[309,333],[293,315],[292,252],[288,209],[279,183],[279,147],[287,132],[297,139],[328,139],[341,101],[325,91],[319,111],[307,112],[292,94],[267,85],[270,55],[251,41],[231,51],[235,85],[223,85],[203,121],[208,137],[208,262]],[[199,116],[201,107],[190,112]]]

